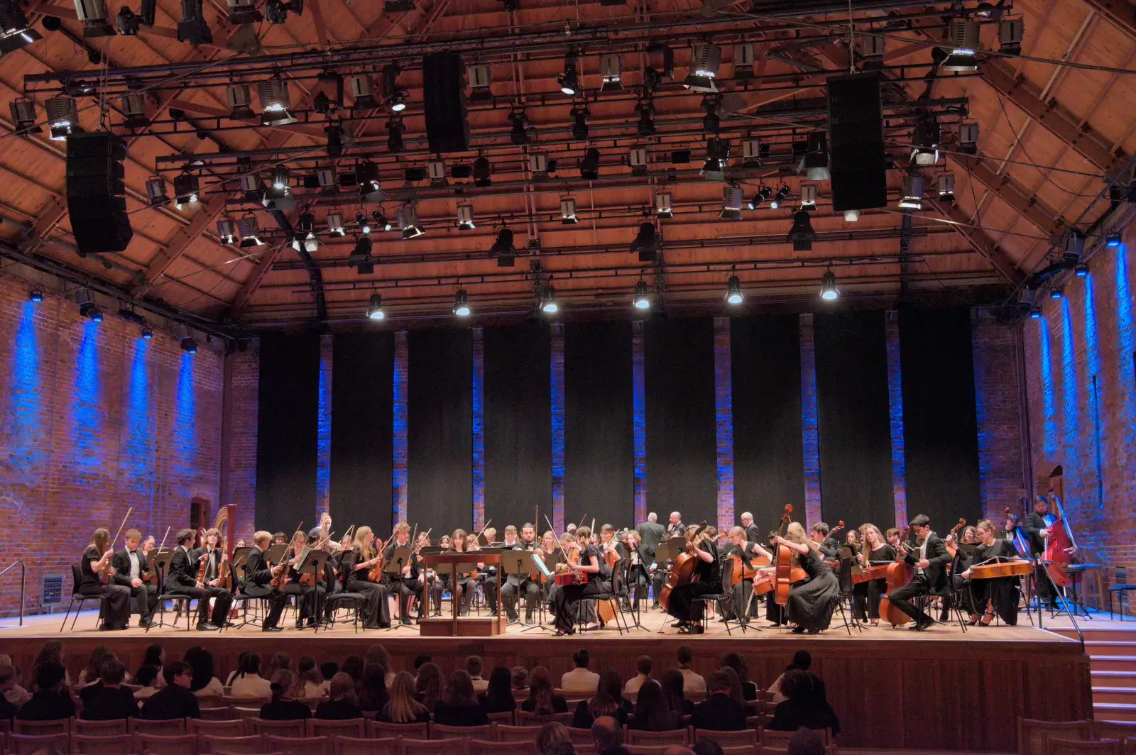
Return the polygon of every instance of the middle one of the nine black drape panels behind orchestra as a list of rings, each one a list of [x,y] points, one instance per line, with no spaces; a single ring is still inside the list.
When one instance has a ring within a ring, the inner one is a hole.
[[[565,326],[565,521],[635,514],[632,324]],[[551,518],[550,518],[551,519]]]

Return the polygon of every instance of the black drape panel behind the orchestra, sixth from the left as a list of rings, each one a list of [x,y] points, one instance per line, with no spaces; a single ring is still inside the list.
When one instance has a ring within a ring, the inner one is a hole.
[[[648,511],[717,522],[713,320],[648,320],[643,345]]]

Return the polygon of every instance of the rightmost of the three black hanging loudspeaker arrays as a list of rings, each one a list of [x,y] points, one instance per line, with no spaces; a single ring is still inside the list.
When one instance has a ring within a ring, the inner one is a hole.
[[[833,210],[887,207],[880,76],[833,76],[827,84]]]

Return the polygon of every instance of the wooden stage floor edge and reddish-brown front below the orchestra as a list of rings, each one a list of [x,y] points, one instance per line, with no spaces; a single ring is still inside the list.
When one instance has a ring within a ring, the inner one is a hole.
[[[443,606],[448,607],[448,606]],[[837,616],[840,614],[837,613]],[[463,668],[467,655],[481,655],[485,672],[494,665],[546,666],[559,680],[571,668],[571,654],[586,647],[591,668],[613,668],[629,678],[640,655],[654,660],[655,670],[674,665],[675,648],[687,644],[694,653],[694,669],[705,676],[718,668],[726,652],[745,656],[750,677],[768,687],[797,649],[812,654],[812,670],[826,685],[828,699],[840,715],[842,745],[864,748],[921,750],[964,749],[1014,752],[1018,716],[1062,721],[1089,718],[1093,712],[1089,658],[1076,639],[1026,626],[969,627],[936,626],[925,632],[908,629],[843,627],[815,636],[752,628],[744,635],[727,635],[712,623],[701,636],[678,635],[661,612],[644,612],[648,630],[633,629],[621,637],[615,629],[573,637],[552,637],[544,630],[523,632],[509,627],[498,637],[420,637],[417,627],[392,631],[356,634],[350,624],[314,634],[292,627],[264,634],[248,627],[223,632],[186,631],[162,627],[145,632],[132,628],[103,632],[94,629],[95,612],[83,612],[74,631],[60,634],[62,616],[30,616],[23,627],[15,619],[0,620],[0,652],[30,669],[40,646],[48,639],[64,639],[72,678],[78,673],[97,645],[107,645],[132,671],[148,645],[160,643],[167,657],[181,657],[193,645],[208,648],[216,658],[217,676],[235,666],[241,651],[267,656],[285,652],[296,658],[311,655],[317,662],[365,654],[375,644],[390,652],[394,670],[410,670],[415,656],[429,654],[443,674]],[[1021,616],[1025,620],[1025,614]],[[69,627],[69,622],[68,622]]]

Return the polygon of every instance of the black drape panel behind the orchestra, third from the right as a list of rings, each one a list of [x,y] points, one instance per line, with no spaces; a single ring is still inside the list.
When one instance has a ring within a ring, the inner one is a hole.
[[[801,329],[796,314],[736,317],[729,328],[734,507],[759,527],[804,510]]]

